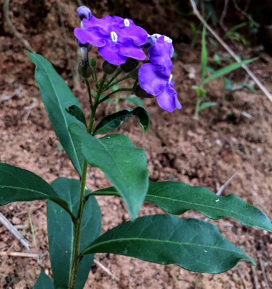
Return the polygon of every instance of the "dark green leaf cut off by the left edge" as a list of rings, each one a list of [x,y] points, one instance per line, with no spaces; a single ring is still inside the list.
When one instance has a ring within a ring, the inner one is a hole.
[[[52,200],[69,211],[68,205],[49,183],[27,170],[0,163],[0,206],[17,201]]]

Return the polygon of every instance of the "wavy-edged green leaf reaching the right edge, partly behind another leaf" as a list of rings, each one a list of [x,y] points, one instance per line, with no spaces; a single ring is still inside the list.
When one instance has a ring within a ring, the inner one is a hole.
[[[114,187],[92,192],[93,195],[117,195]],[[156,204],[170,214],[193,210],[210,219],[232,218],[245,226],[272,231],[267,215],[235,195],[218,196],[205,187],[184,182],[149,182],[145,201]]]

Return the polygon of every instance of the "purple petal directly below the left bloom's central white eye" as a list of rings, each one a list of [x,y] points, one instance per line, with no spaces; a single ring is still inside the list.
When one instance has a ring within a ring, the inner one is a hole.
[[[98,48],[98,53],[109,63],[120,65],[126,62],[126,58],[119,54],[120,44],[107,41],[107,44]]]

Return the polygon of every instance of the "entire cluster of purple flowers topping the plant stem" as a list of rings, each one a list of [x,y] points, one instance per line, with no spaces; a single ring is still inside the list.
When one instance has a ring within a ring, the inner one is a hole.
[[[77,14],[81,28],[76,28],[74,34],[81,48],[88,45],[98,47],[98,53],[114,65],[123,64],[131,58],[145,60],[143,49],[147,49],[149,62],[138,71],[140,87],[156,96],[163,110],[172,112],[175,108],[181,109],[177,92],[173,89],[173,46],[170,38],[160,34],[148,35],[131,19],[108,15],[96,18],[86,6],[80,6]],[[86,49],[84,52],[86,54]]]

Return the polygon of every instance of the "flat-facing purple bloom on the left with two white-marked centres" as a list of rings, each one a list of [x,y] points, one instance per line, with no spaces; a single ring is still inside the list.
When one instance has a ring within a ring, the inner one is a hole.
[[[83,19],[83,27],[74,34],[82,43],[98,47],[98,53],[109,63],[119,65],[128,57],[144,60],[146,55],[139,47],[146,43],[147,32],[134,24],[131,19],[105,16],[90,20]]]

